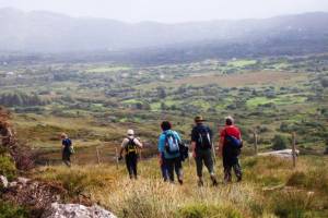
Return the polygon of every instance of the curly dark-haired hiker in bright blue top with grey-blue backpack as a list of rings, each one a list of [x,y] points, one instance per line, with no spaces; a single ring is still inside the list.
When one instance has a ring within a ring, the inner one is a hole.
[[[161,124],[162,134],[159,137],[160,161],[162,161],[161,170],[164,181],[167,179],[174,182],[174,172],[177,180],[183,184],[183,164],[180,158],[179,146],[181,138],[176,131],[171,130],[172,124],[168,121],[163,121]],[[166,177],[166,173],[168,178]]]

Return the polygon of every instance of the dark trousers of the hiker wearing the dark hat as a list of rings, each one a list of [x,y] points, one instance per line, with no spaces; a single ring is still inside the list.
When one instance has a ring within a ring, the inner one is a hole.
[[[202,166],[204,165],[210,174],[214,175],[214,164],[213,164],[213,157],[212,157],[212,150],[211,149],[199,149],[196,150],[196,169],[197,169],[197,175],[199,178],[202,177]]]

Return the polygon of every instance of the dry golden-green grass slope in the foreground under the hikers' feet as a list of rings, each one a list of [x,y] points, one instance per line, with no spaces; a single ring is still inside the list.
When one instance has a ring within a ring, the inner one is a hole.
[[[210,185],[207,172],[206,185],[197,186],[194,161],[184,164],[181,186],[162,181],[156,159],[139,164],[137,181],[128,179],[124,165],[118,169],[108,165],[43,167],[34,177],[62,183],[69,197],[90,196],[118,217],[326,217],[327,158],[314,159],[318,158],[301,157],[292,170],[291,160],[245,157],[244,181],[218,187]],[[221,161],[216,169],[221,180]]]

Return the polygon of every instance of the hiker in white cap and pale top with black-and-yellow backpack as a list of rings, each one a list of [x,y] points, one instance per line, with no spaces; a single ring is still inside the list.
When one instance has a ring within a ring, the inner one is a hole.
[[[138,164],[138,148],[142,148],[142,144],[140,141],[134,137],[134,131],[133,130],[128,130],[127,132],[127,137],[124,138],[121,146],[120,146],[120,152],[119,152],[119,160],[122,159],[122,152],[125,150],[126,153],[126,165],[127,169],[129,172],[130,179],[136,179],[137,180],[137,164]]]

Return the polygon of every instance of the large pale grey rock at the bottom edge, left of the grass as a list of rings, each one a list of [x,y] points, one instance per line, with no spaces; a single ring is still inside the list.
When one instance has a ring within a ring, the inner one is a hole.
[[[42,218],[116,218],[116,216],[97,205],[86,207],[80,204],[52,203]]]

